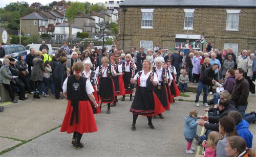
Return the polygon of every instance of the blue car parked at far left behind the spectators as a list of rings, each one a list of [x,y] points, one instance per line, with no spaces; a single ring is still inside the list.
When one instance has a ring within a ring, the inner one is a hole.
[[[10,55],[12,58],[18,58],[20,54],[23,54],[26,58],[27,51],[23,45],[3,45],[5,49],[5,55]]]

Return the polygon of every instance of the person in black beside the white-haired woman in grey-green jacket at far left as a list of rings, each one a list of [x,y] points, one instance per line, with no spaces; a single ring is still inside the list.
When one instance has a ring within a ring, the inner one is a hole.
[[[10,60],[9,68],[10,68],[10,71],[11,71],[12,75],[13,76],[18,76],[20,71],[14,65],[15,64],[15,59],[9,58],[9,60]],[[15,86],[19,87],[19,99],[20,100],[26,100],[27,97],[25,97],[25,89],[26,89],[25,84],[22,82],[22,80],[19,77],[16,77],[14,79],[14,82],[15,82]]]

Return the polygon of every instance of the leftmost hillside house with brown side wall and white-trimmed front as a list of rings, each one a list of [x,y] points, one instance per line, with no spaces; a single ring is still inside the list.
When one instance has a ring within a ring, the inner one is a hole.
[[[48,20],[39,13],[31,13],[20,18],[22,34],[48,33]]]

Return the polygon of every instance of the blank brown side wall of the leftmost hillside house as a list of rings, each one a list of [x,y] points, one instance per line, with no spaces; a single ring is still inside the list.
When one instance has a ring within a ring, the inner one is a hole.
[[[38,20],[36,20],[36,25],[34,25],[34,19],[21,20],[22,23],[22,34],[37,34],[38,30]]]

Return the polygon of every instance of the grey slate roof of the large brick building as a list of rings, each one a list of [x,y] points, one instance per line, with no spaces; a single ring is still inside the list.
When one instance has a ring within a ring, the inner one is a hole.
[[[240,7],[256,8],[255,0],[125,0],[120,7]]]

